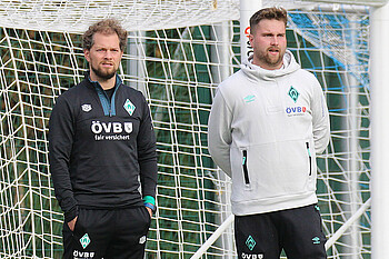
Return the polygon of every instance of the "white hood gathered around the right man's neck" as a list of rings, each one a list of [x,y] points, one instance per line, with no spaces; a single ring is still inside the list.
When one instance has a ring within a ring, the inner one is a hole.
[[[278,77],[286,76],[288,73],[292,73],[296,70],[300,69],[300,64],[296,62],[293,54],[287,50],[283,56],[283,66],[280,69],[276,70],[267,70],[262,69],[259,66],[252,63],[253,54],[251,54],[248,59],[243,60],[241,70],[252,80],[267,80],[272,81]]]

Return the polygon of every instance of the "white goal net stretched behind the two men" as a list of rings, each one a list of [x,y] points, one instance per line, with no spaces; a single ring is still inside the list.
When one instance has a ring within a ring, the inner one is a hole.
[[[289,10],[289,49],[317,76],[330,110],[330,145],[318,158],[329,258],[369,258],[369,8],[262,3]],[[231,213],[230,179],[209,156],[207,122],[216,87],[239,69],[238,0],[1,1],[0,258],[61,257],[48,120],[56,98],[83,78],[81,33],[108,17],[130,31],[119,74],[144,93],[158,141],[147,258],[190,258]],[[229,225],[202,258],[235,255]]]

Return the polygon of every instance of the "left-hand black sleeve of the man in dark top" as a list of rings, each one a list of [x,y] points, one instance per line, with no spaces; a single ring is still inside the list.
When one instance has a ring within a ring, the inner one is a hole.
[[[49,121],[49,163],[54,193],[64,212],[66,222],[78,215],[69,172],[73,132],[71,108],[60,97],[57,99]]]

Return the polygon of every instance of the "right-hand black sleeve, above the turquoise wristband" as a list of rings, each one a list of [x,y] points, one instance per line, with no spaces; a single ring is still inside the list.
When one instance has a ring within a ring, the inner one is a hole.
[[[142,196],[156,198],[158,167],[156,152],[156,135],[151,122],[149,107],[143,100],[143,119],[139,128],[138,162],[140,167],[140,182]]]

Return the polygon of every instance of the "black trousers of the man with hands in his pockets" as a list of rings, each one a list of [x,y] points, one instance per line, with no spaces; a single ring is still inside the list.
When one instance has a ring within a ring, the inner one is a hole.
[[[150,222],[146,207],[80,209],[74,231],[63,223],[63,258],[142,259]]]

